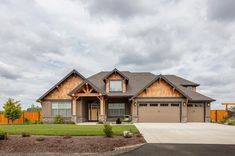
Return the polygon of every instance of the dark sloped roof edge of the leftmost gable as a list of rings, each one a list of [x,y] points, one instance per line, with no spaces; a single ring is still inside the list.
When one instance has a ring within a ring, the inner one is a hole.
[[[61,79],[58,83],[56,83],[53,87],[51,87],[46,93],[44,93],[40,98],[37,99],[37,102],[40,102],[43,98],[45,98],[51,91],[53,91],[57,86],[59,86],[61,83],[63,83],[67,78],[69,78],[71,75],[78,75],[83,80],[86,78],[80,74],[77,70],[73,69],[70,73],[68,73],[63,79]]]

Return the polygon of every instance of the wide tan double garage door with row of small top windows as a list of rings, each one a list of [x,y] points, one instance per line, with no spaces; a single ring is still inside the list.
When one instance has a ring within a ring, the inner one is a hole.
[[[180,103],[140,103],[139,122],[180,122]]]

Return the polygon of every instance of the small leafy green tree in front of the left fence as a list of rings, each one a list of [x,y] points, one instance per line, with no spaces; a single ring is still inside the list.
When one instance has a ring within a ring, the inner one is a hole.
[[[7,100],[7,102],[3,105],[3,109],[3,114],[8,119],[8,123],[9,120],[13,123],[16,119],[19,119],[22,114],[20,101],[15,101],[12,98]]]

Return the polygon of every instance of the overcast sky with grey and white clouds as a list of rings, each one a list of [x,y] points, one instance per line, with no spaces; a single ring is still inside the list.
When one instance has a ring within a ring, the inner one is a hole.
[[[72,69],[88,77],[113,68],[176,74],[223,109],[235,101],[234,8],[234,0],[0,0],[0,110],[9,97],[38,104]]]

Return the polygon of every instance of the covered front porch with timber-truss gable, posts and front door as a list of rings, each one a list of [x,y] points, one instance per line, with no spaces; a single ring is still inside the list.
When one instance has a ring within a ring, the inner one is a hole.
[[[72,121],[106,122],[131,116],[131,104],[128,97],[108,97],[90,82],[82,83],[71,93]]]

